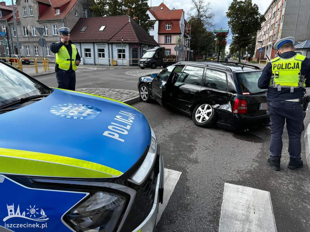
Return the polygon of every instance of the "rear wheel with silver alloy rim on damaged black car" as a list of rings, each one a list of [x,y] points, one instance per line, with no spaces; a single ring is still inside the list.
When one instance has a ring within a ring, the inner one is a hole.
[[[215,121],[214,109],[206,103],[198,104],[193,110],[192,119],[199,127],[211,127]]]

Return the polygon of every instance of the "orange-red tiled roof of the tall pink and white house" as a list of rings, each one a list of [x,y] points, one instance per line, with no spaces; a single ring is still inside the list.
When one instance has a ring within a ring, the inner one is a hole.
[[[163,8],[161,10],[161,8]],[[152,6],[150,7],[150,12],[154,17],[158,20],[164,19],[181,19],[183,14],[183,10],[170,10],[164,3],[161,3],[159,6]],[[153,11],[153,12],[152,12]],[[153,14],[154,13],[154,14]]]

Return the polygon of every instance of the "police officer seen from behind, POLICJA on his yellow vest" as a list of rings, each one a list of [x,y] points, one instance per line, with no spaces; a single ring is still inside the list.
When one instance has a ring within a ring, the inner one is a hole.
[[[301,101],[310,87],[310,60],[296,54],[294,38],[286,37],[274,44],[279,57],[271,60],[264,68],[258,87],[267,90],[268,114],[270,115],[271,141],[268,164],[273,170],[280,171],[282,153],[282,133],[286,122],[289,137],[288,168],[303,167],[301,160],[301,133],[304,130],[305,113]]]

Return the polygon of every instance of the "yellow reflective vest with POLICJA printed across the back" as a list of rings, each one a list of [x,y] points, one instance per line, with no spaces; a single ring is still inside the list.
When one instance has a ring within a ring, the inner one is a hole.
[[[276,57],[272,59],[272,78],[270,80],[270,86],[272,87],[301,87],[299,85],[299,73],[301,69],[301,62],[306,57],[297,54],[291,58],[284,59]],[[303,87],[306,86],[303,79]],[[280,88],[281,89],[281,88]]]

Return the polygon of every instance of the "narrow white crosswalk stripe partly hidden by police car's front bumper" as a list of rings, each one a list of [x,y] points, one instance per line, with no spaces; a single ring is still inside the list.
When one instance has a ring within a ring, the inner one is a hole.
[[[157,222],[159,221],[160,217],[162,216],[162,212],[164,212],[170,196],[172,195],[175,185],[178,183],[179,178],[182,172],[171,170],[171,169],[164,169],[164,199],[162,204],[159,203],[158,214],[157,214]]]

